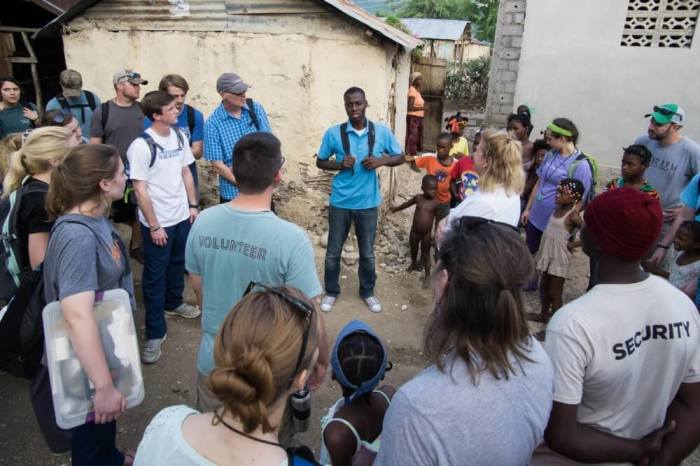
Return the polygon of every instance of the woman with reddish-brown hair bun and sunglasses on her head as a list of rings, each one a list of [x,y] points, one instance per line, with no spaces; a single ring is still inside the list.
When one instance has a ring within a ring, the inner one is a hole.
[[[216,337],[207,383],[222,407],[165,408],[146,428],[134,464],[313,464],[285,451],[278,433],[289,397],[305,387],[318,359],[318,325],[300,291],[251,282]]]

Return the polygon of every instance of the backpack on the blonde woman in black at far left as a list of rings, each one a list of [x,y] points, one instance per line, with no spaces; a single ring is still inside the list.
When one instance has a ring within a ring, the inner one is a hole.
[[[27,194],[46,193],[44,183],[25,184],[26,177],[18,189],[0,201],[2,241],[0,241],[0,301],[7,303],[20,286],[22,277],[30,272],[29,264],[22,262],[18,224],[22,198]]]

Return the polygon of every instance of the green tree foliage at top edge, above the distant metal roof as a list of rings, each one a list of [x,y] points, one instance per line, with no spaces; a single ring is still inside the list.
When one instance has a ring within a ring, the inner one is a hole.
[[[403,18],[461,19],[471,21],[472,34],[493,42],[498,0],[394,0],[386,5]]]

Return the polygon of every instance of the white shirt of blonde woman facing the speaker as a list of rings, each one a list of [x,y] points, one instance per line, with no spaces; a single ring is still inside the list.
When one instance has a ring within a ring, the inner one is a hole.
[[[486,218],[517,227],[520,221],[520,195],[508,193],[502,186],[488,192],[476,191],[450,211],[445,231],[449,231],[453,220],[465,216]]]

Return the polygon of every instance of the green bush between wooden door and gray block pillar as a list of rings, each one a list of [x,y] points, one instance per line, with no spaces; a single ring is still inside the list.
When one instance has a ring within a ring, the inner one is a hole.
[[[445,97],[448,100],[466,101],[469,108],[485,107],[490,69],[490,57],[467,60],[464,63],[450,63],[445,78]]]

